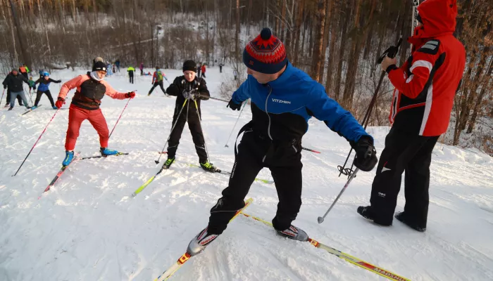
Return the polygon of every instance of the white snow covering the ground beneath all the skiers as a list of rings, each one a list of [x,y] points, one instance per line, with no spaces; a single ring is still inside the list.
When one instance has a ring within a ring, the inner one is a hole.
[[[232,70],[209,68],[212,96]],[[151,71],[151,70],[149,70]],[[54,72],[68,79],[85,70]],[[153,280],[185,252],[189,240],[206,226],[208,211],[227,186],[227,176],[206,174],[187,166],[198,161],[187,126],[177,162],[137,197],[130,194],[158,171],[154,160],[171,126],[175,98],[156,88],[151,77],[137,75],[130,85],[120,74],[108,82],[120,91],[137,89],[110,139],[110,148],[130,155],[74,163],[54,188],[39,200],[64,157],[68,110],[58,112],[46,133],[18,169],[54,110],[49,102],[25,116],[24,109],[1,109],[0,115],[0,280]],[[170,81],[180,70],[165,70]],[[166,84],[166,81],[165,81]],[[57,93],[58,84],[51,84]],[[69,98],[73,93],[69,93]],[[69,101],[70,102],[70,101]],[[101,106],[111,130],[127,100],[104,98]],[[64,105],[64,107],[68,107]],[[247,105],[249,107],[249,105]],[[225,141],[238,117],[216,100],[204,101],[203,128],[211,162],[229,171],[234,162],[234,137]],[[237,131],[251,119],[248,108]],[[369,128],[381,152],[387,127]],[[346,178],[337,177],[349,144],[323,122],[313,119],[303,152],[303,205],[294,225],[314,239],[411,280],[493,280],[493,159],[437,145],[430,179],[428,230],[418,233],[394,221],[375,226],[356,213],[368,204],[374,172],[361,172],[322,224],[325,213]],[[97,155],[99,139],[89,122],[82,124],[76,150]],[[161,163],[166,155],[161,157]],[[268,170],[259,178],[272,179]],[[403,181],[404,182],[404,181]],[[403,187],[404,188],[404,187]],[[273,218],[277,204],[274,185],[255,182],[246,213]],[[404,192],[397,211],[404,207]],[[272,228],[239,216],[203,254],[177,271],[173,280],[386,280],[316,249],[275,235]]]

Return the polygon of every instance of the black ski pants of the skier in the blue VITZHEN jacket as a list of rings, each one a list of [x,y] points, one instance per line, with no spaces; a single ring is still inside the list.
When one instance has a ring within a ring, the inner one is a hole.
[[[273,226],[276,230],[289,228],[301,207],[302,167],[301,142],[270,141],[247,129],[238,146],[230,183],[211,209],[207,232],[223,233],[236,211],[244,207],[244,199],[262,168],[270,169],[279,199]]]

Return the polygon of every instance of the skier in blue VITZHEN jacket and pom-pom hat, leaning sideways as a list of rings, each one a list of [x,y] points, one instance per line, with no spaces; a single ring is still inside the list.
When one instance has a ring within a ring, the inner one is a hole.
[[[291,223],[301,207],[301,138],[312,116],[349,141],[356,150],[358,169],[371,171],[377,163],[373,138],[351,113],[327,96],[322,85],[289,63],[284,45],[268,28],[246,45],[243,62],[248,79],[227,106],[239,110],[251,98],[252,119],[239,131],[244,134],[235,151],[229,186],[211,209],[208,227],[190,242],[187,251],[191,256],[223,233],[236,211],[244,207],[244,198],[262,168],[270,169],[279,197],[272,221],[275,230],[294,240],[308,239],[304,230]]]

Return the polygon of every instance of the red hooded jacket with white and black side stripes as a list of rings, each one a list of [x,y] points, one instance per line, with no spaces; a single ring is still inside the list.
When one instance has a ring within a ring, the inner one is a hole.
[[[466,65],[466,50],[452,34],[456,0],[426,0],[418,6],[423,25],[408,38],[411,56],[400,68],[387,69],[398,93],[392,98],[393,126],[420,136],[447,131],[454,96]]]

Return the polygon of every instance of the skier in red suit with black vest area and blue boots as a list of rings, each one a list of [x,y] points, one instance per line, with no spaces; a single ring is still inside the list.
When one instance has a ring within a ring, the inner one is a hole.
[[[68,129],[65,138],[65,159],[62,165],[67,166],[72,162],[74,156],[75,142],[79,136],[80,125],[84,120],[89,120],[94,129],[99,134],[99,143],[101,145],[101,155],[116,155],[118,151],[108,149],[109,131],[103,112],[99,109],[101,99],[104,95],[123,100],[125,98],[134,98],[135,92],[120,93],[104,81],[106,75],[106,64],[102,61],[96,61],[92,66],[92,72],[79,75],[70,81],[65,82],[61,87],[56,100],[56,107],[61,108],[65,103],[65,97],[71,89],[77,88],[70,104],[68,112]]]

